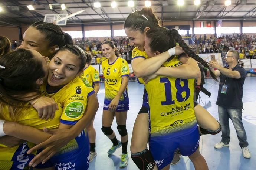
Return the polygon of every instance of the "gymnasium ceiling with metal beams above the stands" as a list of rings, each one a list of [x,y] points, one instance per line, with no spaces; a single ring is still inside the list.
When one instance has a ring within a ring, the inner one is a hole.
[[[95,1],[101,2],[101,8],[93,7]],[[1,0],[0,25],[19,26],[33,21],[43,20],[45,14],[72,14],[85,9],[84,12],[71,17],[67,25],[123,23],[125,18],[135,10],[144,7],[144,1],[135,1],[134,7],[127,6],[127,0],[115,0],[117,8],[111,7],[112,0]],[[256,20],[256,0],[232,0],[230,6],[224,0],[201,0],[195,6],[194,0],[184,0],[183,6],[177,6],[177,0],[151,0],[151,7],[162,21],[182,20]],[[66,10],[60,5],[65,3]],[[35,10],[26,6],[32,4]]]

